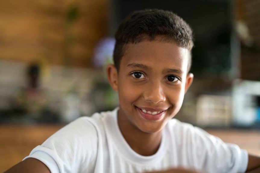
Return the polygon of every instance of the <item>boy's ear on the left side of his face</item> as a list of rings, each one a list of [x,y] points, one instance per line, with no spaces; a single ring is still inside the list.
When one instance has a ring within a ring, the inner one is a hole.
[[[118,91],[118,78],[117,78],[117,69],[113,64],[108,64],[107,69],[107,77],[110,86],[113,88],[114,91]]]

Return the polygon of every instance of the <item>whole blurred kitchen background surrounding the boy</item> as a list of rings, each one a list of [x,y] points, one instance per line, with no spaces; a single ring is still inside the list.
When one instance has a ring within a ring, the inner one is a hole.
[[[260,155],[260,0],[0,0],[0,172],[65,124],[112,110],[105,66],[132,11],[170,10],[195,35],[176,118]]]

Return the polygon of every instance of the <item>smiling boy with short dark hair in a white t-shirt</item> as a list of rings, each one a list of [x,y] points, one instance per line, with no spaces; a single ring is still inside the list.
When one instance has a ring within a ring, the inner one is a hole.
[[[115,37],[107,75],[119,108],[75,120],[7,172],[259,171],[259,157],[172,119],[193,81],[188,24],[169,11],[136,11]]]

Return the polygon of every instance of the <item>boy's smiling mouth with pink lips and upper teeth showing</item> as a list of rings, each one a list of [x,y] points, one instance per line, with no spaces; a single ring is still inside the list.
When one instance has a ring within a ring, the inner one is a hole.
[[[167,111],[167,109],[144,109],[144,108],[139,108],[136,106],[136,109],[140,113],[141,117],[143,117],[146,120],[149,121],[158,121],[160,120],[164,113]]]

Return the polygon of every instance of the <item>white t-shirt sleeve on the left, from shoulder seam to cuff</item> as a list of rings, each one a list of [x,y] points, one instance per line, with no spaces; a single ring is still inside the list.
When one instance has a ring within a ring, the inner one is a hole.
[[[82,117],[57,131],[24,159],[38,159],[53,173],[80,172],[81,164],[94,167],[97,146],[96,128]]]

